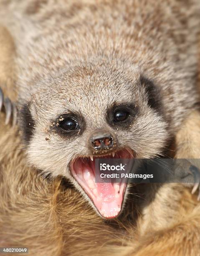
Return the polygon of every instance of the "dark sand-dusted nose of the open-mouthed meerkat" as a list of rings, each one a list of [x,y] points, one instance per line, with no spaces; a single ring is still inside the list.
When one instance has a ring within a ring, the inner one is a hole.
[[[91,135],[90,142],[96,151],[111,149],[114,146],[114,136],[107,131],[96,131]]]

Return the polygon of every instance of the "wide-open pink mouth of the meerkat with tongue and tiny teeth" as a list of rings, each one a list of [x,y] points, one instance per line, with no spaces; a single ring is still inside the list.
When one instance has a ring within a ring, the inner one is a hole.
[[[93,201],[96,209],[104,218],[115,218],[122,210],[126,182],[96,183],[95,158],[132,159],[132,151],[124,148],[105,156],[78,157],[71,163],[71,173],[78,184]]]

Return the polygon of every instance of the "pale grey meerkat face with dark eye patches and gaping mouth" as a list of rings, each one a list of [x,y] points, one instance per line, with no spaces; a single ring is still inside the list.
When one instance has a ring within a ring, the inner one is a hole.
[[[95,158],[161,153],[167,123],[153,83],[136,68],[88,66],[41,81],[38,88],[21,110],[30,163],[44,174],[67,177],[101,216],[116,217],[126,184],[95,183]]]

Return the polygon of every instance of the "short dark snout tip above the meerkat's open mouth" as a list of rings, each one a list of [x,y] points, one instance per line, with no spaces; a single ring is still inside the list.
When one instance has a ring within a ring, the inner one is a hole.
[[[93,154],[106,154],[116,148],[116,137],[106,130],[94,131],[89,138],[89,148]]]

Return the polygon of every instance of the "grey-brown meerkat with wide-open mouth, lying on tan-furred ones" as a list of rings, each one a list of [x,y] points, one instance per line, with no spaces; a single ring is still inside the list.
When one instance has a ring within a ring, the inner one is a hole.
[[[118,216],[129,185],[96,184],[94,160],[165,154],[197,108],[199,13],[198,0],[2,0],[29,163]]]

